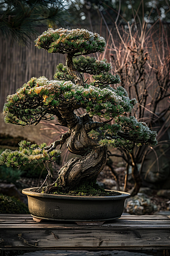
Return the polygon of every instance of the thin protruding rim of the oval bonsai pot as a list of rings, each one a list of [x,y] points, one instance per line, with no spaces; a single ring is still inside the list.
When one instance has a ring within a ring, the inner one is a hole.
[[[53,195],[53,194],[38,193],[33,191],[37,188],[39,187],[24,188],[22,190],[22,193],[27,196],[46,197],[49,199],[71,199],[71,200],[121,200],[131,196],[130,193],[127,193],[127,192],[109,190],[109,189],[105,189],[105,191],[119,192],[121,193],[121,195],[117,195],[117,196],[69,196],[69,195],[57,195],[57,194]]]

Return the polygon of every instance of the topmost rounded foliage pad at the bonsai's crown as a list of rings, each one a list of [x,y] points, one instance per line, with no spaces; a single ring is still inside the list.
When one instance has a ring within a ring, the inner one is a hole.
[[[37,48],[46,49],[49,53],[70,53],[74,56],[103,52],[106,45],[105,39],[97,33],[88,30],[67,30],[49,28],[35,40]]]

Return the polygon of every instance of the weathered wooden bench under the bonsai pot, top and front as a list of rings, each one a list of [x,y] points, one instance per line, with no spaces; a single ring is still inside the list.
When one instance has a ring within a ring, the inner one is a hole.
[[[0,214],[0,249],[157,249],[168,252],[170,216],[124,215],[103,225],[77,225],[74,222],[35,222],[28,214]]]

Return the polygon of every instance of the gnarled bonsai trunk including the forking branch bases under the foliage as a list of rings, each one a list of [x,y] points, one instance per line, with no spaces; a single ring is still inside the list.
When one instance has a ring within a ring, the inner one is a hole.
[[[88,136],[88,131],[95,124],[88,114],[78,117],[74,112],[71,112],[70,108],[59,109],[59,112],[69,127],[69,131],[67,131],[69,135],[66,136],[69,137],[68,150],[73,154],[82,156],[70,159],[58,172],[57,186],[69,191],[79,183],[97,178],[105,166],[107,152],[105,146],[100,146],[97,140]],[[60,141],[60,144],[64,143],[63,138]]]

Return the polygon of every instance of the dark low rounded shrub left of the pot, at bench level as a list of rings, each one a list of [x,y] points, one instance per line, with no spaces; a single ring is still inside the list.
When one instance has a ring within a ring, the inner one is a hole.
[[[0,213],[1,214],[29,214],[28,207],[15,197],[0,194]]]

